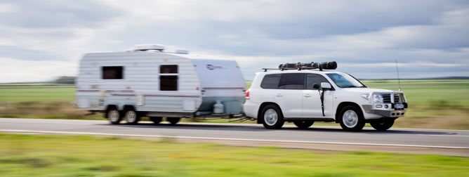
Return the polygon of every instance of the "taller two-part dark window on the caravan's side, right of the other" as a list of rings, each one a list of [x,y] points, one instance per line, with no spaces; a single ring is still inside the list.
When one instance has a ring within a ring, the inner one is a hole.
[[[160,65],[159,74],[160,91],[178,90],[178,65]]]

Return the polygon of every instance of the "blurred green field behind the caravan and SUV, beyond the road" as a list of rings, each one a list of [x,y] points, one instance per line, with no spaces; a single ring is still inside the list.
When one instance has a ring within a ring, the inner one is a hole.
[[[398,89],[395,80],[363,83],[370,88]],[[401,85],[409,110],[406,117],[397,119],[395,127],[469,129],[469,80],[404,80]],[[249,88],[251,82],[246,82],[246,86]],[[0,117],[103,119],[101,114],[85,116],[86,111],[75,109],[74,90],[74,85],[0,84]]]

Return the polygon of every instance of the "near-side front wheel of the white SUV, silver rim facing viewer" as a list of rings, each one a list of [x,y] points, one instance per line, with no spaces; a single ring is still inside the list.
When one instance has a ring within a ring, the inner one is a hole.
[[[362,110],[352,105],[343,107],[338,118],[345,131],[361,131],[365,126]]]

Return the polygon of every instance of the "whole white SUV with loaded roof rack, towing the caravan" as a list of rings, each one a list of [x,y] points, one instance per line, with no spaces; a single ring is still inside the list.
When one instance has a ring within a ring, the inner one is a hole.
[[[360,131],[370,123],[384,131],[407,111],[402,91],[369,89],[343,72],[305,69],[312,67],[281,65],[277,71],[256,73],[246,91],[246,116],[267,129],[280,129],[284,122],[306,129],[319,121],[340,123],[348,131]]]

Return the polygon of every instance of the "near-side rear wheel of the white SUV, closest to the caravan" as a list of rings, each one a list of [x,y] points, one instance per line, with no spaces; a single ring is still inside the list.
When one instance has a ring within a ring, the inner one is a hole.
[[[265,106],[260,115],[265,129],[280,129],[285,123],[282,112],[275,105]]]

